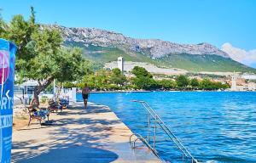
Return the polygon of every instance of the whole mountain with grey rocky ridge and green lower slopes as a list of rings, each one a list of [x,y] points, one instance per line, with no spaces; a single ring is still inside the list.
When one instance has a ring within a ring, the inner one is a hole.
[[[159,39],[136,39],[125,37],[113,31],[95,28],[58,28],[66,46],[83,48],[84,58],[96,62],[110,62],[123,56],[125,60],[148,62],[159,67],[179,68],[191,71],[240,71],[256,70],[230,59],[228,53],[203,42],[199,44],[178,44]]]

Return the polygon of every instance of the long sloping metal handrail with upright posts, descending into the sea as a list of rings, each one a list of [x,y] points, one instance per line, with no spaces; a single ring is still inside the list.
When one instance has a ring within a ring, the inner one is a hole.
[[[149,149],[152,149],[154,151],[154,154],[156,154],[156,150],[155,150],[155,142],[156,142],[156,125],[158,124],[162,130],[164,132],[166,132],[166,135],[172,139],[172,142],[175,143],[175,145],[177,146],[177,149],[179,149],[182,154],[183,154],[183,158],[184,156],[186,158],[189,158],[191,159],[191,162],[192,163],[198,163],[198,160],[195,159],[195,157],[193,155],[190,154],[189,150],[186,149],[184,146],[183,146],[183,143],[181,143],[181,141],[175,136],[175,134],[169,129],[168,126],[166,126],[165,122],[162,121],[160,119],[160,116],[157,115],[155,113],[155,111],[150,107],[150,105],[145,102],[145,101],[140,101],[140,100],[131,100],[132,102],[137,102],[137,103],[140,103],[143,105],[143,107],[148,111],[148,136],[147,136],[147,139],[144,139],[146,140],[146,145],[148,146],[149,144],[149,132],[150,132],[150,115],[154,118],[154,140],[153,140],[153,149],[151,148],[151,146],[149,145]],[[131,140],[130,140],[131,142]],[[135,147],[135,142],[133,144],[133,146]]]

